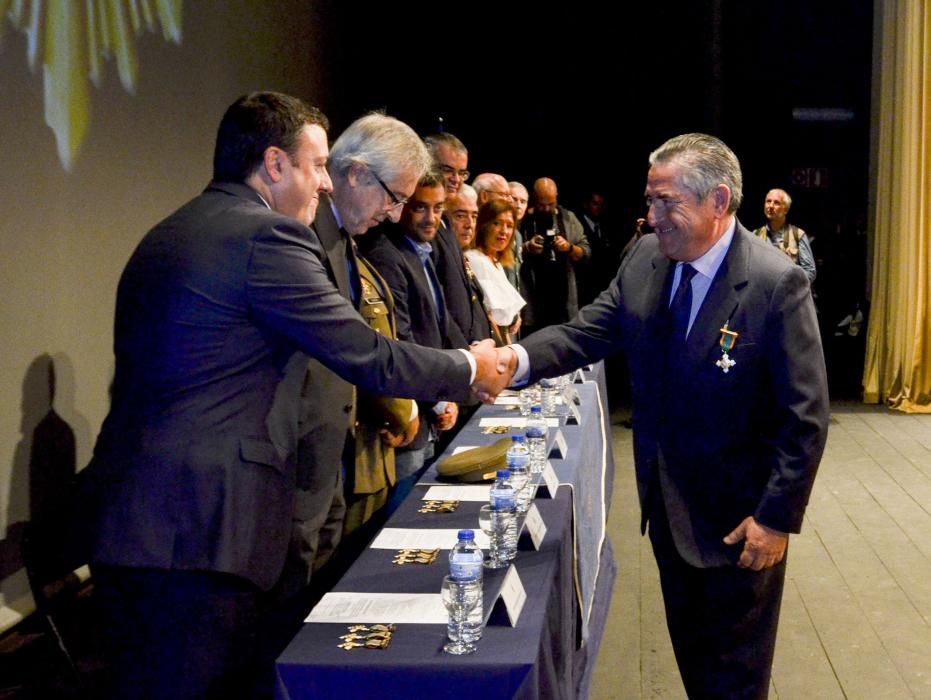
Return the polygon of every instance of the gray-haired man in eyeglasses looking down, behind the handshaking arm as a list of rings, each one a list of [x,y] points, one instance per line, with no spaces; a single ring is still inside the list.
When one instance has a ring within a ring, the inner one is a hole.
[[[313,228],[331,279],[356,308],[368,306],[363,305],[360,265],[351,237],[401,216],[400,203],[393,201],[375,177],[390,192],[410,193],[430,164],[430,154],[414,130],[384,114],[357,119],[333,144],[329,161],[333,191],[321,195]],[[330,559],[342,536],[344,470],[352,470],[356,453],[356,440],[350,434],[356,419],[355,399],[351,384],[319,361],[310,360],[296,455],[293,541],[280,584],[284,595],[310,582],[313,571]]]

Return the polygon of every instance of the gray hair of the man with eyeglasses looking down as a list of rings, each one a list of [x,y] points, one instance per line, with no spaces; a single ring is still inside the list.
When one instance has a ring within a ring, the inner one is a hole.
[[[366,166],[382,180],[411,174],[418,180],[433,158],[417,133],[404,122],[381,112],[356,119],[330,150],[330,174],[345,178],[353,164]]]

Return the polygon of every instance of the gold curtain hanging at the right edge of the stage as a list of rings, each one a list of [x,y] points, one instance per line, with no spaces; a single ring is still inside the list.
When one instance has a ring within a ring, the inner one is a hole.
[[[863,398],[931,413],[931,8],[925,0],[885,0],[876,19],[879,121]]]

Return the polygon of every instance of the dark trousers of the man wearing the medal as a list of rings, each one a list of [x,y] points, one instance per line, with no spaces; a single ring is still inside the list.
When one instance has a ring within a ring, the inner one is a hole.
[[[736,525],[736,523],[735,523]],[[760,698],[769,693],[786,561],[763,571],[686,563],[665,513],[650,516],[666,624],[689,698]]]

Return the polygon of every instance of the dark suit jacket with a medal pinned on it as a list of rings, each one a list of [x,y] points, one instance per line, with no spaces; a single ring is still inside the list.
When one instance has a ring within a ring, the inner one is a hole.
[[[574,321],[522,344],[531,381],[626,353],[644,518],[658,483],[682,557],[723,565],[741,546],[721,539],[748,515],[783,532],[801,527],[827,437],[824,357],[804,273],[738,223],[685,355],[669,371],[657,358],[673,268],[656,236],[644,236]],[[727,373],[715,364],[725,322],[740,334]]]

